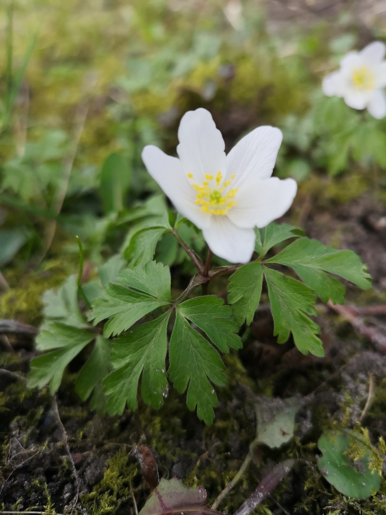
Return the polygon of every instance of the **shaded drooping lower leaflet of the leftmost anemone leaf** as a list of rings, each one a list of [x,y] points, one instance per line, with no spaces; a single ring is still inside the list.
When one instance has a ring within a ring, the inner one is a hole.
[[[112,370],[110,344],[103,336],[96,338],[93,353],[79,372],[75,383],[75,390],[82,401],[88,399],[94,390],[91,409],[96,409],[99,415],[106,413],[107,399],[102,390],[102,380]]]

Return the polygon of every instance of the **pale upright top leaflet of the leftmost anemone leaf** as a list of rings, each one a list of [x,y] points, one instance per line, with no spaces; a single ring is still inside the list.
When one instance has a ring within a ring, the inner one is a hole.
[[[69,276],[58,289],[45,291],[42,297],[46,318],[57,320],[67,325],[86,328],[87,324],[79,310],[77,276]]]

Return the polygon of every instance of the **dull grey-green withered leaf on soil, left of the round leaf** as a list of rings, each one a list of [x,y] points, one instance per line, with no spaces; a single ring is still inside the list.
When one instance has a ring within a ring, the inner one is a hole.
[[[259,396],[256,403],[257,440],[271,449],[280,447],[293,437],[295,415],[301,404],[288,399]]]

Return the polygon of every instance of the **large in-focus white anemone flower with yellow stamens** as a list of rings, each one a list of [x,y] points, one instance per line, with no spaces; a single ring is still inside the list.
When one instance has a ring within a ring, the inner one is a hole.
[[[284,215],[296,195],[293,179],[271,177],[282,132],[257,127],[226,156],[206,109],[188,111],[178,130],[178,158],[148,145],[142,159],[183,216],[202,229],[210,250],[231,263],[250,261],[254,227]]]

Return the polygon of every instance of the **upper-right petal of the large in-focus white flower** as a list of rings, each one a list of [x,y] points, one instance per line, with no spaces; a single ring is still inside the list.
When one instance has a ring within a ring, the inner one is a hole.
[[[227,178],[236,176],[232,188],[239,187],[249,177],[271,177],[282,140],[282,131],[268,125],[244,136],[226,156]]]

